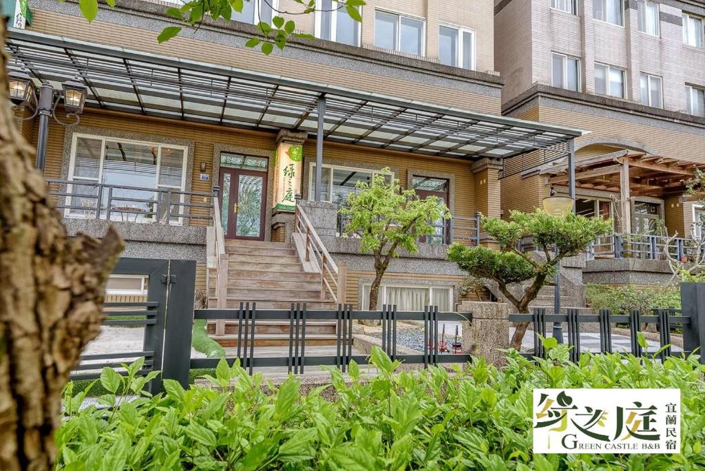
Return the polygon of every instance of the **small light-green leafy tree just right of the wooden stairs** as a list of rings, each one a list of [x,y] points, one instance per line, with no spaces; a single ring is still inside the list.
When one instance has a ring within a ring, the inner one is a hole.
[[[384,169],[388,171],[389,169]],[[436,232],[434,221],[450,219],[448,207],[439,197],[421,200],[414,190],[401,190],[399,181],[387,181],[377,173],[372,183],[357,183],[358,192],[348,195],[341,208],[350,218],[343,233],[360,238],[360,250],[374,256],[374,281],[369,288],[369,310],[377,307],[382,276],[400,249],[419,251],[419,238]]]

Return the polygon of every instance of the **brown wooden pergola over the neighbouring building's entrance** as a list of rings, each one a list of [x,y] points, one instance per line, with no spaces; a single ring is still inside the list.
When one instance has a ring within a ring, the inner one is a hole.
[[[618,192],[621,214],[631,226],[631,197],[685,192],[685,183],[695,175],[695,169],[703,170],[705,164],[622,150],[577,161],[575,188]],[[568,184],[565,164],[544,168],[541,173],[548,176],[549,185]]]

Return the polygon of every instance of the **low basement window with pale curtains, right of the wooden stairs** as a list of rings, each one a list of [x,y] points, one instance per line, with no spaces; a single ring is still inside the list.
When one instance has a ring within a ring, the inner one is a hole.
[[[370,285],[362,288],[362,309],[369,305]],[[450,286],[419,286],[388,284],[379,287],[377,309],[396,305],[398,311],[423,311],[426,306],[438,306],[439,312],[452,310],[453,288]]]

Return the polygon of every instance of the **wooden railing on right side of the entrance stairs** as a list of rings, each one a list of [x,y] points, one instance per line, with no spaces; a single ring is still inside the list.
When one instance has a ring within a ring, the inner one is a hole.
[[[321,299],[325,299],[327,293],[331,295],[334,302],[344,303],[345,284],[348,278],[347,264],[345,262],[336,264],[305,211],[299,205],[296,206],[293,232],[294,245],[304,264],[304,269],[321,274]]]

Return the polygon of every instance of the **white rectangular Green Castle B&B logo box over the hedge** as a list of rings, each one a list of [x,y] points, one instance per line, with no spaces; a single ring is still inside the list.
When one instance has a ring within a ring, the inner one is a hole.
[[[680,453],[679,389],[534,389],[534,453]]]

